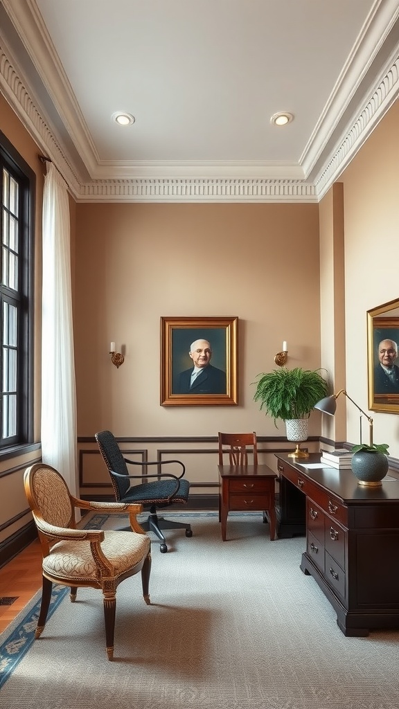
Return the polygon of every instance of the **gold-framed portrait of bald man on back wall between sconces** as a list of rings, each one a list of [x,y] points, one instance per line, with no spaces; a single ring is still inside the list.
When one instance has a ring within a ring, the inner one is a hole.
[[[160,318],[161,406],[236,406],[239,318]]]

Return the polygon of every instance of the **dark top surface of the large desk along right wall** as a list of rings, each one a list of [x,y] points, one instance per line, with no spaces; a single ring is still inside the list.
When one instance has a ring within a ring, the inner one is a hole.
[[[326,491],[334,493],[344,503],[399,502],[399,474],[396,471],[388,470],[381,486],[368,488],[359,485],[350,469],[339,470],[320,463],[320,453],[310,453],[309,458],[301,461],[284,454],[276,453],[275,456]]]

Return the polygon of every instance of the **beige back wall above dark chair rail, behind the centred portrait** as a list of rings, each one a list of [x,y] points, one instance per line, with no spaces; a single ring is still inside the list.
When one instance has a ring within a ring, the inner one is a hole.
[[[318,232],[315,204],[79,204],[79,435],[285,435],[251,383],[283,340],[290,367],[319,367]],[[239,317],[239,406],[160,406],[161,316]]]

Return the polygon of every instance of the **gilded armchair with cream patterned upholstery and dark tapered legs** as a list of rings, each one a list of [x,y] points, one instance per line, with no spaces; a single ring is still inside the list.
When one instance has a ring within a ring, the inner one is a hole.
[[[43,552],[43,593],[35,637],[44,630],[53,583],[70,586],[71,601],[81,586],[99,588],[104,598],[106,653],[113,659],[116,587],[141,571],[144,601],[150,603],[151,541],[133,531],[140,529],[136,515],[142,506],[75,498],[60,473],[43,463],[27,468],[23,483]],[[75,508],[129,514],[132,531],[77,529]]]

